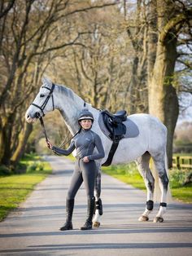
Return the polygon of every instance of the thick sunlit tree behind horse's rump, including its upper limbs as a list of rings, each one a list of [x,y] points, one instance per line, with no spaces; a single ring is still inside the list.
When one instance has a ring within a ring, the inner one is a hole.
[[[168,128],[168,166],[172,166],[172,139],[179,114],[177,90],[173,85],[177,42],[181,29],[189,24],[192,10],[180,1],[152,1],[157,15],[158,42],[154,66],[148,79],[149,113]],[[149,52],[149,55],[151,52]]]

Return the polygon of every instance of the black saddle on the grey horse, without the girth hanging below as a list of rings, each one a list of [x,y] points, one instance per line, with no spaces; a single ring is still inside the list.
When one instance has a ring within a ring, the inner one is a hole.
[[[111,114],[107,110],[103,110],[102,115],[103,122],[110,132],[109,137],[112,140],[122,139],[126,133],[126,126],[124,126],[123,121],[127,120],[127,112],[120,110],[115,114]]]

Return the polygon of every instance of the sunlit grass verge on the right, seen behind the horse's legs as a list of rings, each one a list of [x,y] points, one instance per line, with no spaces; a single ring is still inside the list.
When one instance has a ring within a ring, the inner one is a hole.
[[[139,188],[146,191],[145,183],[142,176],[137,170],[134,163],[129,165],[117,165],[103,167],[103,172],[111,175],[122,182],[132,185],[134,188]],[[185,177],[190,173],[190,170],[171,170],[169,173],[170,188],[174,200],[185,203],[192,203],[192,184],[185,186],[182,183]]]

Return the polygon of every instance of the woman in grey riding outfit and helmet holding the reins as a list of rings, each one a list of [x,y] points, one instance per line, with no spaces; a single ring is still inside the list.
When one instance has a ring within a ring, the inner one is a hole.
[[[76,164],[75,170],[72,174],[72,181],[68,189],[68,197],[66,201],[66,222],[63,227],[60,227],[61,231],[72,229],[72,212],[74,207],[74,198],[76,192],[81,187],[81,183],[84,181],[85,190],[88,197],[87,206],[87,219],[85,225],[81,227],[81,230],[87,230],[92,228],[92,218],[94,215],[94,183],[97,175],[97,168],[94,160],[103,158],[105,156],[103,150],[103,144],[100,137],[91,130],[94,122],[94,116],[88,109],[84,109],[78,122],[81,126],[79,133],[72,139],[68,149],[64,150],[52,146],[50,141],[47,142],[48,148],[53,152],[68,156],[74,149],[76,149]],[[97,148],[98,152],[94,152],[94,148]]]

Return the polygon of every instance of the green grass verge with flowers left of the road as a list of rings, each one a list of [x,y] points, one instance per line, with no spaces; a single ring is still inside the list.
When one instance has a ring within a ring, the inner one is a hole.
[[[25,174],[0,177],[0,221],[26,199],[37,183],[51,173],[50,165],[40,157],[26,156],[20,161],[26,167]]]

